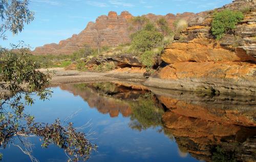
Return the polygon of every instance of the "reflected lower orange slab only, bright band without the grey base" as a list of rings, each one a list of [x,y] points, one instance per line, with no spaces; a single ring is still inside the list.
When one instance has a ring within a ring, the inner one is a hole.
[[[159,96],[158,99],[168,109],[171,109],[173,113],[184,117],[192,117],[227,124],[256,126],[254,121],[256,110],[253,108],[246,111],[243,109],[222,109],[224,104],[214,104],[209,102],[208,105],[207,103],[204,105],[195,101],[195,104],[193,104],[187,103],[187,101],[164,96]]]

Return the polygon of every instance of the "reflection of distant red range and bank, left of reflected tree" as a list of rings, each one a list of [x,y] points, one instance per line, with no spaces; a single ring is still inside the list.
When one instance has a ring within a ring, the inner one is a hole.
[[[90,107],[95,107],[102,114],[109,113],[111,117],[117,117],[119,113],[124,117],[131,115],[129,100],[137,99],[146,92],[110,83],[61,85],[60,88],[79,95]]]

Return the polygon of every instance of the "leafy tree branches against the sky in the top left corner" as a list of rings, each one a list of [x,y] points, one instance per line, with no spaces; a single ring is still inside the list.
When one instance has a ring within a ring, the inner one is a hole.
[[[28,4],[27,0],[0,1],[0,39],[7,39],[7,31],[13,34],[22,32],[24,24],[29,24],[34,19],[34,13],[28,9]]]

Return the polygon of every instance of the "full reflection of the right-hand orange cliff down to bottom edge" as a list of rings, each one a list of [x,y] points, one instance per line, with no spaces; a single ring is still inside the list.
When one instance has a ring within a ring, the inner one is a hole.
[[[205,161],[256,160],[253,99],[153,92],[166,107],[164,132],[173,135],[183,154],[187,151]]]

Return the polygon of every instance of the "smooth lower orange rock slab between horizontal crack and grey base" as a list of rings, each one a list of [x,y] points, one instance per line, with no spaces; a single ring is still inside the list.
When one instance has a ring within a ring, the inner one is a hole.
[[[246,78],[254,81],[256,65],[239,62],[182,62],[164,67],[158,74],[162,79],[206,78],[222,79]]]

